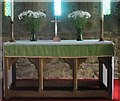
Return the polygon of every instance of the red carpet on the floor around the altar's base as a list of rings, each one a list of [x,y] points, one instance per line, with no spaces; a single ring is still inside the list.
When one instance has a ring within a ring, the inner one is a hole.
[[[1,99],[0,101],[120,101],[120,80],[114,81],[113,100],[104,99]]]

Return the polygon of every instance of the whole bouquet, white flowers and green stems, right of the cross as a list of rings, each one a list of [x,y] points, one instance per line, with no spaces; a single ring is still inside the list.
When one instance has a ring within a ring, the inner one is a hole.
[[[74,27],[80,35],[82,35],[83,29],[85,28],[85,25],[87,23],[87,19],[90,17],[91,15],[89,12],[85,12],[82,10],[77,10],[68,14],[68,18],[72,20]]]

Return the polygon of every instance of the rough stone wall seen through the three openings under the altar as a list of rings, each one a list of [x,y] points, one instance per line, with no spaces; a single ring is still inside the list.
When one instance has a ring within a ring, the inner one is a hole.
[[[44,65],[45,79],[72,79],[74,59],[46,59]],[[98,78],[98,60],[97,58],[81,58],[82,61],[77,70],[79,79],[97,79]],[[17,78],[37,78],[38,67],[30,62],[27,58],[19,58],[17,60]]]

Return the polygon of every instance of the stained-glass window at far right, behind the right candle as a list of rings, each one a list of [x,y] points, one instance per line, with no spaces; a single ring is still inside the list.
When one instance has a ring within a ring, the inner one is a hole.
[[[103,14],[111,14],[111,0],[103,0]]]

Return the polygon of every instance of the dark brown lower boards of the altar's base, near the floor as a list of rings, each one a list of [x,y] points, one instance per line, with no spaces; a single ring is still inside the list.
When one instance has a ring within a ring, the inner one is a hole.
[[[43,91],[38,91],[37,80],[18,80],[10,87],[9,97],[35,98],[107,98],[107,89],[98,80],[79,80],[78,90],[73,91],[72,80],[45,80]]]

